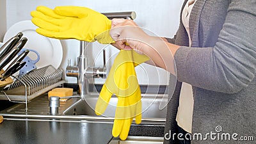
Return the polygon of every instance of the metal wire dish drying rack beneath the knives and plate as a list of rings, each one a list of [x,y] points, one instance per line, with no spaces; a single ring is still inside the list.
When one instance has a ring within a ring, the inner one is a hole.
[[[56,69],[52,65],[38,68],[22,76],[12,77],[13,83],[1,90],[0,99],[25,103],[26,111],[28,111],[30,100],[65,83],[63,70]]]

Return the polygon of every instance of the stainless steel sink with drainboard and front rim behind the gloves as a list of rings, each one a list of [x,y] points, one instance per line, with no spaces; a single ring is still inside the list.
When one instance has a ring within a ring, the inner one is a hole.
[[[109,102],[109,106],[103,115],[95,115],[95,104],[98,99],[97,93],[90,93],[86,100],[79,98],[68,99],[67,101],[61,101],[58,115],[53,115],[56,118],[72,118],[72,120],[100,120],[102,122],[113,122],[115,117],[115,105],[117,98],[113,96]],[[147,94],[141,99],[142,102],[142,122],[141,124],[164,124],[166,117],[166,107],[159,109],[159,105],[162,102],[166,103],[167,97],[164,94]],[[38,117],[48,118],[49,104],[47,93],[36,97],[28,103],[28,112],[25,111],[25,104],[17,104],[11,108],[4,109],[0,112],[3,116],[21,116],[21,117]]]

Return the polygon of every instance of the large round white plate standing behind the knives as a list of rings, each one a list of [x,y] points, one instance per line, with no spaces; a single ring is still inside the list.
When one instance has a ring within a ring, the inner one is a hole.
[[[63,49],[60,40],[48,38],[36,33],[36,26],[31,20],[24,20],[13,24],[4,35],[3,42],[6,42],[17,33],[22,32],[23,36],[28,38],[28,42],[24,45],[24,49],[34,49],[40,54],[40,60],[36,63],[37,68],[52,65],[55,68],[60,67]],[[34,52],[29,52],[28,56],[36,60]]]

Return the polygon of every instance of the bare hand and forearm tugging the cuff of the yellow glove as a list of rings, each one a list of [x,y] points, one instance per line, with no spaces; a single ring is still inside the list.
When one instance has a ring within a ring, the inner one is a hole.
[[[118,49],[134,49],[147,55],[157,67],[164,68],[173,75],[175,63],[173,55],[179,45],[173,45],[161,37],[147,35],[133,20],[113,19],[109,35]]]

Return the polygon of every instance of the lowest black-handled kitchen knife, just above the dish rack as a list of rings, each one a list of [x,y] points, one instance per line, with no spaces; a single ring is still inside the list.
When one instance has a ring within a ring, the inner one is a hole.
[[[2,74],[1,81],[4,81],[7,77],[10,77],[12,74],[20,70],[20,68],[26,65],[26,61],[14,63],[10,68],[6,69],[6,71]]]

